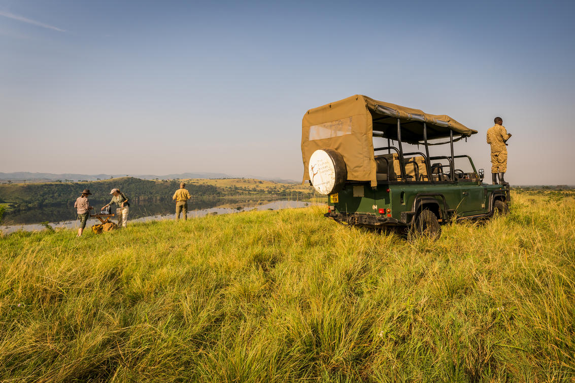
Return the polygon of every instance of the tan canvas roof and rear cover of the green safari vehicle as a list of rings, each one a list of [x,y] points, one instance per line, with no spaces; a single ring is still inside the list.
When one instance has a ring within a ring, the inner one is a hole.
[[[309,158],[317,149],[338,150],[346,161],[347,179],[371,181],[377,185],[373,152],[373,132],[397,141],[397,118],[401,122],[401,141],[418,144],[423,141],[423,123],[427,138],[469,137],[469,129],[448,115],[424,113],[419,109],[354,95],[343,100],[308,110],[302,119],[301,154],[304,181],[309,180]]]

